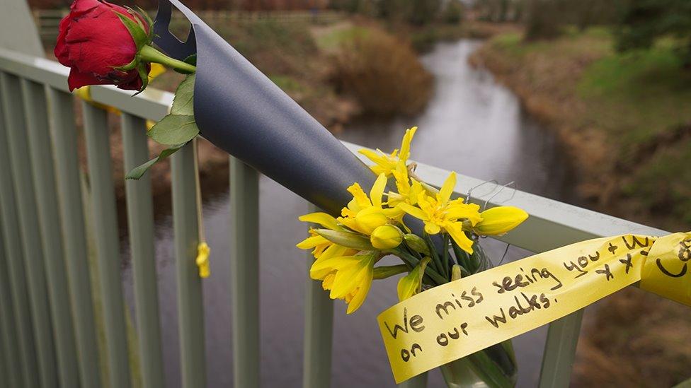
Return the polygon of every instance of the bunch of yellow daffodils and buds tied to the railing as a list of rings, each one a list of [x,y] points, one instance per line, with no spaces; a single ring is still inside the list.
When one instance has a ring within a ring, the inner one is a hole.
[[[348,187],[353,199],[340,217],[319,212],[299,218],[319,225],[297,244],[312,249],[310,276],[322,282],[332,299],[345,300],[348,314],[362,305],[375,279],[407,273],[398,283],[399,299],[405,300],[423,286],[488,269],[491,264],[478,237],[503,235],[527,218],[520,208],[481,211],[455,197],[455,172],[439,189],[421,182],[414,175],[415,164],[408,163],[416,131],[406,130],[400,150],[392,153],[360,150],[374,163],[370,168],[377,180],[369,193],[357,182]],[[416,230],[415,224],[423,228]],[[377,266],[387,255],[399,257],[402,264]]]

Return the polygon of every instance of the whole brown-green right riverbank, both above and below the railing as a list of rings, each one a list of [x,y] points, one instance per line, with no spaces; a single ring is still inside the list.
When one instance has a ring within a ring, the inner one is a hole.
[[[499,35],[474,56],[554,129],[597,211],[664,230],[691,229],[691,72],[664,42],[617,54],[610,33],[549,42]],[[690,310],[628,288],[588,310],[576,387],[670,387],[688,378]]]

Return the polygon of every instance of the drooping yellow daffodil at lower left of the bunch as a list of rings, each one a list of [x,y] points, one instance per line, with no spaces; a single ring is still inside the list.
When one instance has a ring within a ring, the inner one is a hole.
[[[345,300],[348,303],[347,313],[350,314],[365,302],[372,286],[377,259],[377,252],[331,257],[315,261],[310,273],[329,271],[321,286],[324,290],[331,290],[329,298]]]

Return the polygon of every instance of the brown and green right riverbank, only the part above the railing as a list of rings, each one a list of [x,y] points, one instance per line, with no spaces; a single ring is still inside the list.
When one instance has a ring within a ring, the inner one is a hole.
[[[602,29],[532,43],[512,33],[472,61],[557,131],[591,207],[666,230],[691,227],[691,71],[670,45],[617,54]]]

